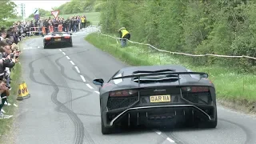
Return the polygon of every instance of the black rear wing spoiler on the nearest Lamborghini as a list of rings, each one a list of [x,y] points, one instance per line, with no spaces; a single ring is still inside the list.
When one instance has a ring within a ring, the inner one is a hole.
[[[122,77],[116,77],[116,78],[112,78],[112,80],[114,79],[121,79],[121,78],[134,78],[134,77],[138,77],[138,86],[140,85],[140,78],[141,77],[145,77],[145,76],[154,76],[154,75],[165,75],[165,74],[177,74],[178,75],[178,84],[180,85],[180,78],[179,75],[181,74],[198,74],[198,75],[203,75],[204,78],[208,78],[208,74],[206,73],[202,73],[202,72],[168,72],[168,73],[164,73],[164,72],[154,72],[152,71],[151,74],[132,74],[132,75],[126,75],[126,76],[122,76]]]

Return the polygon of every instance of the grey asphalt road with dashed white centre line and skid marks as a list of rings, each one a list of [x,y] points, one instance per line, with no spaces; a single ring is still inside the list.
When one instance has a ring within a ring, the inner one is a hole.
[[[256,118],[218,106],[214,130],[138,129],[102,135],[98,88],[94,78],[107,80],[126,66],[74,35],[74,47],[42,49],[42,38],[25,42],[23,78],[31,97],[19,104],[13,141],[18,144],[254,144]]]

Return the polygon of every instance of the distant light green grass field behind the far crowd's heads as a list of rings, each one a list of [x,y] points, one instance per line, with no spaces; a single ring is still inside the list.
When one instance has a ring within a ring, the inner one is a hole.
[[[79,14],[62,14],[59,15],[59,17],[61,18],[69,18],[69,17],[73,17],[74,15],[86,15],[86,18],[88,21],[92,22],[93,25],[98,25],[99,22],[99,17],[100,17],[100,12],[90,12],[90,13],[79,13]],[[51,18],[54,18],[53,15],[50,15]],[[42,18],[49,18],[49,16],[46,17],[42,17]],[[26,18],[26,21],[30,21],[30,20],[34,20],[34,18]],[[8,19],[9,22],[17,22],[17,21],[22,21],[21,18],[17,18],[17,19]]]

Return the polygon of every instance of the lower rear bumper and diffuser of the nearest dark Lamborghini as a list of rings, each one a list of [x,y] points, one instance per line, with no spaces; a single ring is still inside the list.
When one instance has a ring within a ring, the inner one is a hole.
[[[107,127],[122,121],[136,122],[137,125],[158,122],[162,124],[162,122],[171,122],[171,120],[181,121],[186,115],[197,115],[205,121],[214,121],[216,117],[207,114],[205,110],[202,110],[203,108],[216,111],[214,106],[200,106],[200,108],[195,105],[141,106],[114,113],[102,112],[102,116],[105,117],[103,121]]]

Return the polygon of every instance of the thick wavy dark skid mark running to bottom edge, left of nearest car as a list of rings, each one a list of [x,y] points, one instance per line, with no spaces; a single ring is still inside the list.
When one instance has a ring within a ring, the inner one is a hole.
[[[69,115],[69,117],[71,118],[71,120],[74,122],[75,125],[75,139],[74,139],[74,143],[76,144],[82,144],[83,143],[83,136],[85,135],[85,129],[83,126],[82,121],[80,120],[80,118],[78,118],[77,114],[74,114],[74,112],[70,109],[68,109],[66,106],[64,106],[62,104],[62,102],[59,102],[57,99],[57,94],[59,91],[58,86],[56,86],[55,82],[52,81],[48,75],[45,74],[44,70],[40,70],[40,73],[42,74],[42,76],[44,78],[46,78],[46,81],[50,82],[50,84],[53,86],[54,88],[54,92],[53,94],[51,94],[51,100],[52,102],[54,102],[54,104],[56,106],[62,106],[62,111],[66,112],[66,114]],[[90,138],[89,134],[86,134],[87,137],[87,141],[94,143],[94,141]]]

